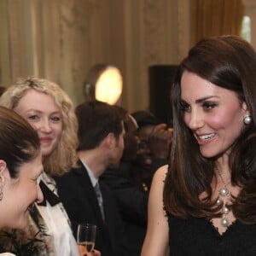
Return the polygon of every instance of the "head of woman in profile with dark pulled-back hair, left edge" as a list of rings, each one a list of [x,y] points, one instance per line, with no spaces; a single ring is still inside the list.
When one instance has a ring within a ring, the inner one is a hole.
[[[24,228],[29,209],[43,201],[38,134],[25,119],[0,107],[0,229]]]

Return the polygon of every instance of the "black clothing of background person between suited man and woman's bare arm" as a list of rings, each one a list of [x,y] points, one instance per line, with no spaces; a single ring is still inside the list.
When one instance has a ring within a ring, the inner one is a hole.
[[[121,162],[119,169],[107,170],[100,180],[113,191],[121,217],[125,224],[125,235],[129,255],[140,256],[147,230],[148,190],[143,181],[132,177],[134,165]]]

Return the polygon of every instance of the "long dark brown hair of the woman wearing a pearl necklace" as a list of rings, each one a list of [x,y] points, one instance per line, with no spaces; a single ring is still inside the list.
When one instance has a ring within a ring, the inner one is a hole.
[[[243,223],[256,223],[256,54],[247,41],[236,36],[205,38],[189,50],[177,69],[172,86],[173,139],[171,168],[164,187],[166,211],[180,218],[216,216],[211,182],[214,160],[204,158],[195,137],[184,124],[181,110],[181,77],[187,70],[212,84],[236,92],[247,103],[252,123],[231,148],[231,183],[241,186],[232,210]],[[195,84],[196,86],[196,84]],[[205,191],[203,200],[199,195]]]

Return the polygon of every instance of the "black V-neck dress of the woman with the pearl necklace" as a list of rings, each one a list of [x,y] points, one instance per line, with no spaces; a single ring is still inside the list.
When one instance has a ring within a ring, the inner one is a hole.
[[[256,224],[236,220],[223,235],[205,218],[168,216],[172,256],[255,256]]]

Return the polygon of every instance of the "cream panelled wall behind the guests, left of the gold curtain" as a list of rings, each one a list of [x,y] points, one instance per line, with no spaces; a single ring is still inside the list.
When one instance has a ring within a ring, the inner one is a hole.
[[[1,82],[37,75],[75,104],[91,66],[124,76],[120,104],[148,108],[148,66],[177,64],[189,49],[189,0],[1,0]]]

